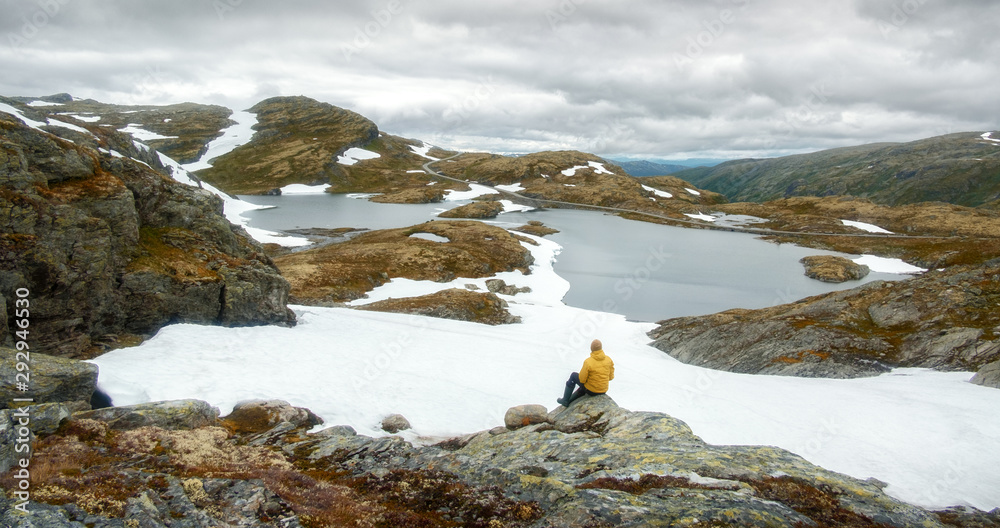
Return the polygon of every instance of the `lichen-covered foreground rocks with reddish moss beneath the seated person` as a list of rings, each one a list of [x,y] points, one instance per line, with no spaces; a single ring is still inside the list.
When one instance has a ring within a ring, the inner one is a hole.
[[[0,422],[11,411],[0,411]],[[994,527],[1000,512],[930,512],[885,484],[773,447],[706,444],[668,415],[607,396],[427,447],[371,438],[286,402],[83,411],[35,441],[35,527]],[[0,423],[2,425],[2,423]],[[44,468],[44,469],[43,469]],[[0,477],[15,489],[11,475]]]

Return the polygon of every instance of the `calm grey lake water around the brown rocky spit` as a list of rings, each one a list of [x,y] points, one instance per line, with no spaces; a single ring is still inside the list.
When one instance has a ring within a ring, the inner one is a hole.
[[[467,203],[377,204],[329,194],[241,198],[276,206],[246,215],[252,226],[275,231],[405,227],[431,220],[445,208]],[[560,231],[548,238],[563,247],[555,264],[556,272],[571,284],[563,302],[622,314],[635,321],[655,322],[730,308],[763,308],[873,280],[906,278],[872,273],[863,281],[827,284],[806,277],[799,259],[840,253],[775,244],[742,233],[624,220],[594,211],[508,213],[491,223],[515,227],[529,220],[539,220]]]

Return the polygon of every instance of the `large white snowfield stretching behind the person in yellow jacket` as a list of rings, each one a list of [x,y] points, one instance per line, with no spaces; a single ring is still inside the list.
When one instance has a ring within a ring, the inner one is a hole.
[[[615,360],[610,395],[635,411],[665,412],[713,444],[773,445],[827,469],[889,483],[891,495],[929,508],[1000,506],[1000,391],[969,373],[899,369],[856,380],[754,376],[680,363],[649,346],[654,325],[567,307],[555,274],[560,247],[532,237],[530,275],[498,275],[530,293],[506,297],[515,325],[295,306],[293,328],[168,326],[141,346],[95,360],[116,405],[200,398],[223,414],[252,398],[312,409],[326,426],[383,436],[401,413],[427,443],[503,424],[511,406],[555,407],[591,339]],[[439,284],[395,279],[368,301],[431,293]],[[420,290],[418,292],[417,290]]]

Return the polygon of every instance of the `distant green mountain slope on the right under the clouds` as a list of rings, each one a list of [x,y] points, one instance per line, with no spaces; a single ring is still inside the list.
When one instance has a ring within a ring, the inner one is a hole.
[[[977,207],[1000,200],[1000,143],[967,132],[736,160],[674,176],[732,201],[849,195],[886,205],[942,201]]]

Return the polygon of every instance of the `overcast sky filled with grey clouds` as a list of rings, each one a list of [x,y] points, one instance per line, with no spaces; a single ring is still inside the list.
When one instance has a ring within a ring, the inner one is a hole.
[[[0,0],[0,94],[306,95],[447,148],[749,157],[1000,128],[994,0]]]

